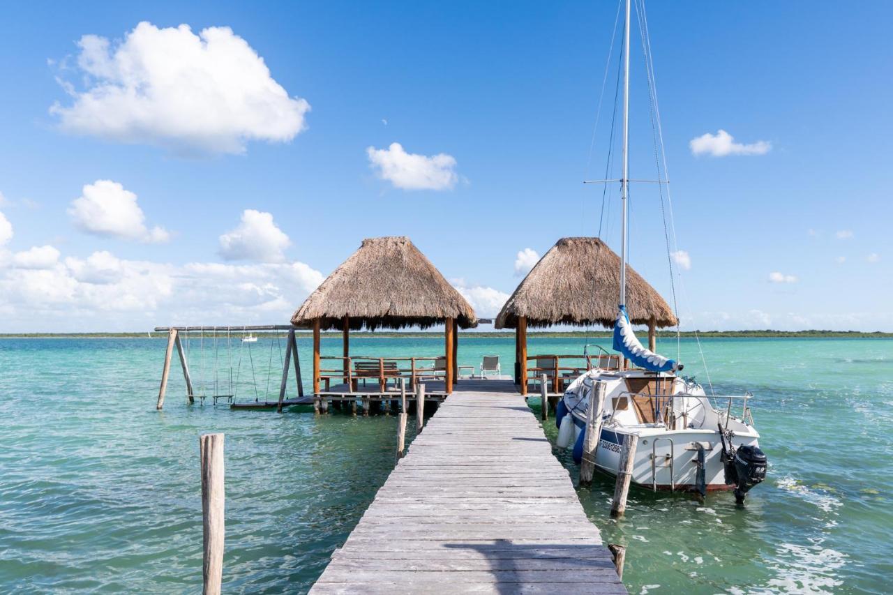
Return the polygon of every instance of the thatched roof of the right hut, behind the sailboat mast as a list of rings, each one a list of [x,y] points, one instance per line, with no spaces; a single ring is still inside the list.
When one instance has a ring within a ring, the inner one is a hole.
[[[528,326],[553,324],[612,327],[620,295],[620,256],[598,238],[562,238],[530,272],[497,316],[497,329],[513,329],[519,316]],[[626,268],[626,309],[630,321],[673,326],[672,308],[647,281]]]

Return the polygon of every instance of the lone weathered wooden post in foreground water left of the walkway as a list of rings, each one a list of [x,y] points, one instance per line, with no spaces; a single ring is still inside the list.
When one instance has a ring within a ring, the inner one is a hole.
[[[220,595],[223,577],[224,490],[223,434],[198,439],[202,468],[202,527],[204,595]]]

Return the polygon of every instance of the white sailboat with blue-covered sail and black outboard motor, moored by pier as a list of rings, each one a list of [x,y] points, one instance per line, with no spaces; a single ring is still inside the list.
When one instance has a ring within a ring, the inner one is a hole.
[[[579,463],[589,401],[600,401],[600,410],[595,412],[595,419],[600,422],[595,425],[596,431],[600,427],[595,451],[597,469],[619,473],[622,449],[635,447],[630,477],[633,484],[651,490],[697,491],[702,496],[711,490],[734,490],[736,501],[743,504],[747,491],[762,482],[766,474],[766,457],[758,444],[760,434],[747,406],[752,395],[708,397],[700,384],[681,375],[680,362],[642,346],[626,310],[630,0],[625,0],[625,8],[622,178],[598,181],[621,184],[620,296],[613,325],[613,348],[631,366],[597,367],[572,381],[555,412],[557,443],[560,448],[573,445],[573,457]]]

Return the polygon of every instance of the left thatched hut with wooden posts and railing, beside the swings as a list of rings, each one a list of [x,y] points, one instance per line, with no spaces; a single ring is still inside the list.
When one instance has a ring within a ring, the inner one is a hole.
[[[339,374],[347,392],[357,379],[371,377],[386,390],[388,379],[410,375],[416,381],[422,370],[416,360],[431,360],[430,373],[439,373],[447,394],[456,380],[455,326],[477,325],[472,306],[447,282],[408,238],[363,239],[360,248],[313,291],[292,316],[292,324],[313,327],[313,393],[320,394],[320,331],[343,333],[344,356]],[[350,356],[351,329],[403,329],[408,326],[445,326],[444,356],[438,358],[384,358]],[[409,369],[400,360],[411,360]],[[331,370],[324,372],[333,372]],[[439,376],[438,376],[439,377]],[[327,384],[329,378],[325,379]]]

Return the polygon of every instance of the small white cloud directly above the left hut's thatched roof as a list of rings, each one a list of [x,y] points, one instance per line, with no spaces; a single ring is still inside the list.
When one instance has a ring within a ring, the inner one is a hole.
[[[459,180],[452,155],[406,153],[400,143],[391,143],[386,149],[368,147],[366,155],[379,178],[399,189],[448,190]]]

